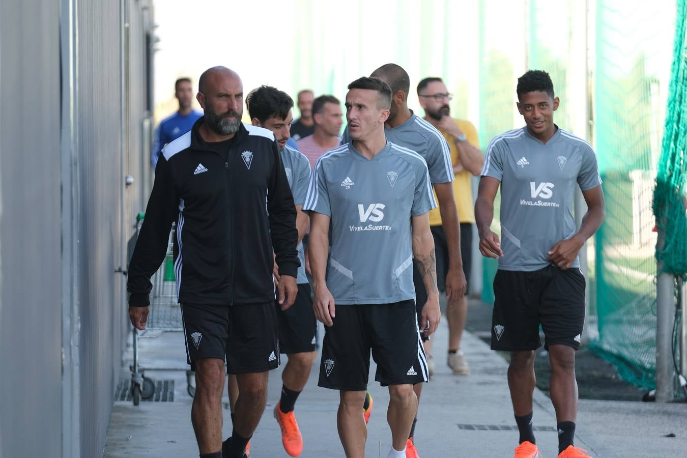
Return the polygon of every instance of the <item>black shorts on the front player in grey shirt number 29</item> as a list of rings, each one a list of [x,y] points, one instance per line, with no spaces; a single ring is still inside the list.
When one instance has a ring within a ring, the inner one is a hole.
[[[325,326],[320,387],[365,391],[370,351],[382,386],[427,382],[427,358],[420,341],[414,301],[336,306]]]

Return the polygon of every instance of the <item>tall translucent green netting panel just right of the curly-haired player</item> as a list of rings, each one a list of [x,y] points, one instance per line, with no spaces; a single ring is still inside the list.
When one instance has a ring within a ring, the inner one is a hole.
[[[670,6],[596,3],[594,132],[606,220],[595,240],[598,339],[592,347],[622,378],[646,388],[655,372],[651,199],[675,23]]]

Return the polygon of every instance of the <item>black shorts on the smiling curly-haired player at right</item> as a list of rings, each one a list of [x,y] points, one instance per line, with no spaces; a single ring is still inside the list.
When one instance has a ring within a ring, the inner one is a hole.
[[[519,352],[567,345],[577,350],[585,321],[585,277],[579,268],[496,272],[491,348]]]

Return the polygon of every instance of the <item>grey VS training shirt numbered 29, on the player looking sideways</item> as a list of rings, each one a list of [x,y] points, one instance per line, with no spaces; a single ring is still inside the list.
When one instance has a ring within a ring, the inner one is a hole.
[[[335,304],[415,299],[411,217],[436,207],[425,159],[387,141],[372,160],[352,144],[315,163],[303,208],[330,217]]]

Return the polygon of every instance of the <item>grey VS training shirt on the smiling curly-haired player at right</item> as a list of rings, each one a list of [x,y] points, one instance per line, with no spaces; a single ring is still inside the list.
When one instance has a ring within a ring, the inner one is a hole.
[[[536,271],[548,251],[576,233],[575,186],[601,184],[596,154],[586,141],[558,128],[546,144],[526,127],[497,135],[486,148],[482,176],[501,181],[499,269]],[[579,267],[576,259],[572,267]]]

